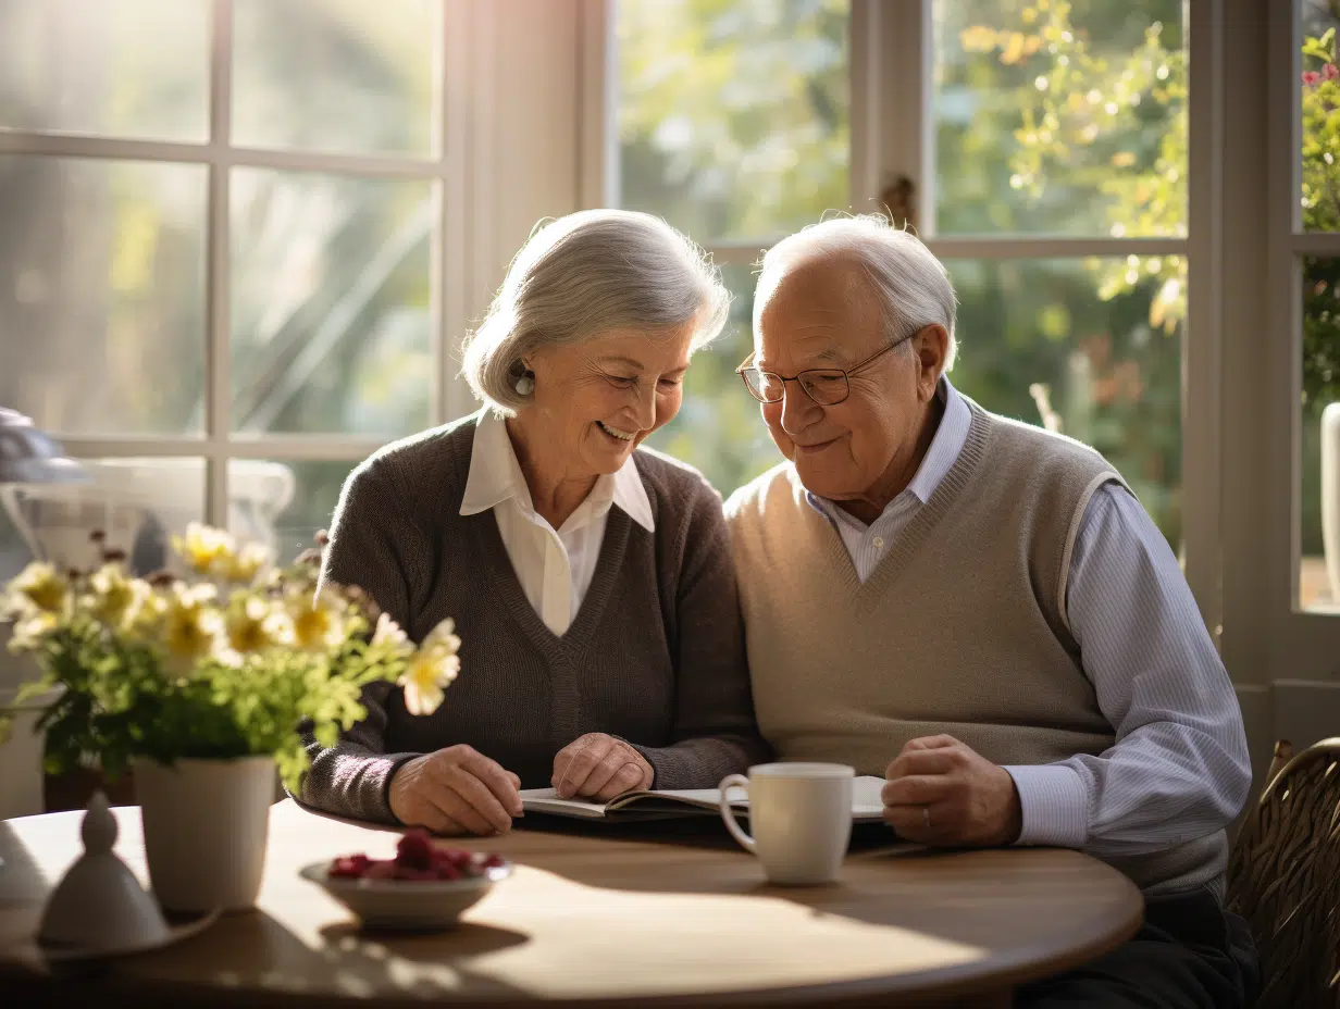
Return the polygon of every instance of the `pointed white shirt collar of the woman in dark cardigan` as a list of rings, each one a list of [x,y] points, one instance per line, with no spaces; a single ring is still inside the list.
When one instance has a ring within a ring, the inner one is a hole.
[[[470,472],[465,478],[461,515],[486,512],[508,498],[515,498],[521,511],[535,512],[531,488],[517,462],[507,422],[494,411],[484,410],[474,425]],[[592,516],[604,515],[610,505],[619,505],[643,529],[655,532],[651,500],[632,456],[612,476],[599,477],[583,505]]]

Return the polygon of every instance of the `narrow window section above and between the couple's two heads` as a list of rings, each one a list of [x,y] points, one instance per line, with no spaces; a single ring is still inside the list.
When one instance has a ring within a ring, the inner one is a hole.
[[[730,323],[685,381],[653,444],[729,493],[776,461],[736,366],[753,346],[752,264],[847,206],[846,0],[618,0],[618,165],[610,201],[661,214],[724,264]]]

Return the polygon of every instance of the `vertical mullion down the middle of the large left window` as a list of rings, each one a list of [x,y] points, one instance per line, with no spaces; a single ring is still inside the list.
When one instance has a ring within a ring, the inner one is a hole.
[[[228,142],[232,133],[233,12],[230,0],[214,0],[209,63],[209,206],[205,225],[205,520],[228,523],[228,457],[232,427],[230,233]]]

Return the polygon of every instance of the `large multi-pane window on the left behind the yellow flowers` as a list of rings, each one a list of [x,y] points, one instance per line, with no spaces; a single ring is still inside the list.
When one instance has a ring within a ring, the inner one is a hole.
[[[445,304],[464,257],[444,252],[462,17],[0,4],[0,403],[88,461],[146,564],[206,517],[292,557],[356,461],[460,411],[444,320],[465,316]],[[12,511],[67,553],[56,527],[94,521],[75,493]]]

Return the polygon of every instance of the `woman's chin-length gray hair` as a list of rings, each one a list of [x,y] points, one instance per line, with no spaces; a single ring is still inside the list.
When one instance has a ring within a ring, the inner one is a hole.
[[[726,324],[730,293],[698,245],[659,217],[582,210],[541,222],[508,268],[480,328],[465,339],[462,373],[474,395],[504,414],[536,350],[610,330],[649,335],[694,323],[690,350]]]

